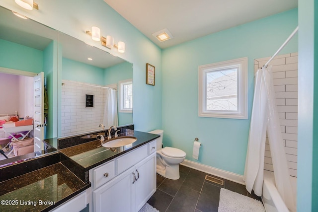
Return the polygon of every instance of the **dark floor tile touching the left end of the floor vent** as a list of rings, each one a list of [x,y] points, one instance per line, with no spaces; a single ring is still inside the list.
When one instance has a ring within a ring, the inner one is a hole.
[[[191,169],[185,178],[183,185],[195,191],[201,192],[205,175],[206,173],[204,172]]]

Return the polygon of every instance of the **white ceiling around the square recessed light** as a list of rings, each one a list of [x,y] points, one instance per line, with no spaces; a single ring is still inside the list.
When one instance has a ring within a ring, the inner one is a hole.
[[[298,6],[298,0],[104,0],[164,49]],[[152,34],[167,28],[173,39]]]

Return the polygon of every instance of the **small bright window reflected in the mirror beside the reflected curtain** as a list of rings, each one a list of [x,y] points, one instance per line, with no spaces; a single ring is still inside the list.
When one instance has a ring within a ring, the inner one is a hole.
[[[119,81],[119,113],[133,112],[133,80]]]

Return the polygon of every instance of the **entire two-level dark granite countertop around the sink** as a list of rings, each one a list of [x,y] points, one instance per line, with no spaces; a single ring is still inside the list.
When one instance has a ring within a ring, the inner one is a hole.
[[[159,138],[129,129],[119,136],[132,136],[137,141],[117,148],[98,147],[99,140],[87,141],[0,167],[0,212],[50,211],[91,186],[89,169]],[[52,145],[58,140],[50,141]],[[46,204],[41,204],[43,201]]]

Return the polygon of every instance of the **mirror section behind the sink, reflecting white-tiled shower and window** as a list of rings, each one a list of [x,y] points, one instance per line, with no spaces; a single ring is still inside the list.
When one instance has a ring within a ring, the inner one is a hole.
[[[132,124],[132,64],[63,33],[59,48],[58,137]]]

